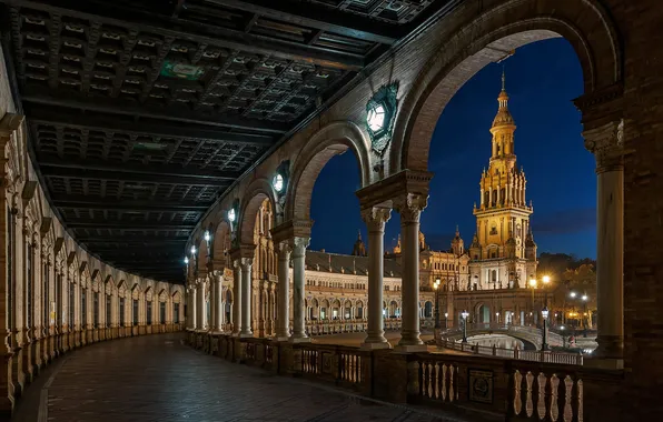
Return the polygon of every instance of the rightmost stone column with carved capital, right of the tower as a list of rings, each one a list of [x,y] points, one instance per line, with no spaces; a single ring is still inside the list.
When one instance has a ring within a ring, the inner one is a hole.
[[[624,352],[624,121],[583,132],[596,158],[595,358],[622,359]]]

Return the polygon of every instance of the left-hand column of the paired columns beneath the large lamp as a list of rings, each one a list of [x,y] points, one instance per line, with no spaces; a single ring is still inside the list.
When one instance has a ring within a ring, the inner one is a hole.
[[[384,319],[382,312],[375,312],[383,307],[384,295],[384,240],[385,223],[389,221],[392,210],[386,208],[370,208],[362,212],[362,219],[368,228],[368,328],[362,349],[390,349],[385,339]],[[354,314],[350,313],[350,318]]]

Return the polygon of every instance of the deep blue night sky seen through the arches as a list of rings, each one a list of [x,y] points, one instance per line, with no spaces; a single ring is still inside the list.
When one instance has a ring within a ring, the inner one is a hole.
[[[527,177],[532,230],[541,252],[596,258],[596,177],[594,159],[583,147],[581,114],[572,103],[583,93],[582,70],[571,44],[553,39],[522,47],[504,62],[509,110],[516,121],[515,152]],[[503,64],[493,63],[472,78],[445,108],[433,135],[429,169],[435,173],[422,231],[432,249],[448,249],[455,224],[468,247],[476,228],[472,214],[478,182],[488,167],[491,133],[497,111]],[[355,191],[359,188],[352,152],[335,157],[316,181],[310,248],[350,253],[366,227]],[[385,248],[400,231],[393,211]]]

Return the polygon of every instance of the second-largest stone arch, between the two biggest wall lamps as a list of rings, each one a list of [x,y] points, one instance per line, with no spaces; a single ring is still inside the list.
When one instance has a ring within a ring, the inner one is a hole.
[[[370,183],[370,154],[366,135],[353,122],[333,122],[317,131],[297,155],[286,194],[286,221],[310,220],[310,199],[318,174],[334,157],[353,151],[362,187]]]

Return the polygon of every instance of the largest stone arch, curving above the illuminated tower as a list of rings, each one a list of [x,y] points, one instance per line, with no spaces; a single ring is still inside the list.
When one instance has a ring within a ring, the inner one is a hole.
[[[584,92],[591,94],[622,80],[621,40],[597,0],[544,0],[532,7],[506,0],[471,20],[451,37],[441,37],[438,53],[419,74],[397,117],[389,174],[427,170],[433,131],[456,91],[476,72],[524,44],[563,37],[583,69]]]

